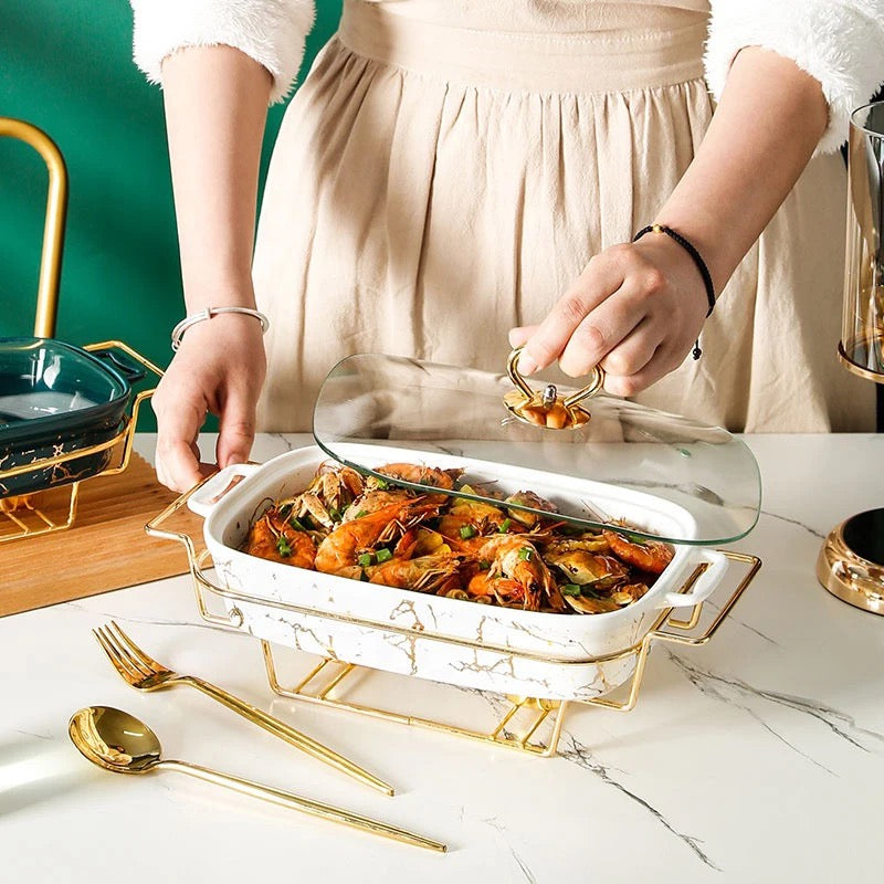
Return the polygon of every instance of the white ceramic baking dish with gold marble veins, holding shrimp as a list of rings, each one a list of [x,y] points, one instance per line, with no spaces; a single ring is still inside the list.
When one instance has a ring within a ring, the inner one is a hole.
[[[425,460],[443,469],[465,467],[471,476],[505,488],[530,488],[554,501],[580,495],[614,518],[670,536],[692,536],[693,519],[685,509],[612,485],[470,457],[424,459],[380,445],[343,444],[340,456],[368,466]],[[189,501],[206,518],[206,544],[230,590],[228,608],[239,610],[243,629],[309,653],[498,693],[589,699],[629,678],[635,657],[620,654],[641,642],[663,609],[699,603],[727,569],[720,552],[675,545],[672,562],[639,601],[603,614],[556,614],[369,586],[242,552],[239,547],[262,502],[302,491],[324,460],[325,452],[311,446],[260,466],[230,466]],[[224,493],[238,475],[243,478]],[[699,564],[706,569],[681,593]]]

